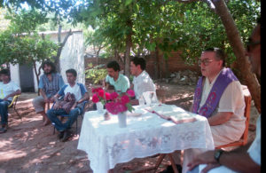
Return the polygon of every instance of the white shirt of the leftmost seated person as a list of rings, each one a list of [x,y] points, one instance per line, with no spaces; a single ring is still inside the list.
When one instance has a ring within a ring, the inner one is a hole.
[[[3,99],[17,90],[20,90],[20,87],[12,81],[5,84],[0,83],[0,98]],[[12,101],[12,97],[9,97],[7,99]]]

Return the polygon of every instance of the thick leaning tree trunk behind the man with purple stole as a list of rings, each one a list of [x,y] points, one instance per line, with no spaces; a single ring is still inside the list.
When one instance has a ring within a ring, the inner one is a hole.
[[[227,37],[231,43],[232,50],[237,57],[236,66],[241,72],[241,77],[245,79],[248,90],[254,99],[254,106],[261,113],[261,85],[256,76],[251,72],[251,67],[245,56],[245,48],[241,42],[239,30],[231,17],[226,4],[223,0],[212,0],[215,4],[215,12],[219,15],[226,30]]]

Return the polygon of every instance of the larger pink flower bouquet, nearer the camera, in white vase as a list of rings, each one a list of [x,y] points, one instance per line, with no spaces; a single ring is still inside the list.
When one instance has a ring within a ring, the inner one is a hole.
[[[119,95],[117,92],[110,94],[110,102],[106,103],[106,109],[111,114],[119,114],[129,110],[132,112],[134,108],[130,104],[129,97],[134,97],[134,90],[128,90],[126,94]]]

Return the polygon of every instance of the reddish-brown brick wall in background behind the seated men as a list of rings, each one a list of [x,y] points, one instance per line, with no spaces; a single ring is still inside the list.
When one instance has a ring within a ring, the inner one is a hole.
[[[153,79],[156,79],[156,76],[164,78],[167,77],[167,74],[171,74],[176,71],[184,71],[187,69],[200,73],[200,67],[198,67],[197,64],[195,66],[189,66],[184,64],[184,60],[181,59],[178,52],[176,51],[173,51],[172,56],[168,58],[168,71],[166,69],[166,61],[165,59],[163,59],[162,55],[159,56],[158,67],[154,52],[152,52],[151,55],[145,57],[145,59],[146,59],[146,71]],[[106,64],[111,60],[114,59],[98,59],[98,65]],[[97,59],[96,58],[85,59],[85,67],[88,67],[88,64],[90,63],[92,63],[93,66],[96,66]],[[123,64],[120,63],[120,66],[122,69]]]

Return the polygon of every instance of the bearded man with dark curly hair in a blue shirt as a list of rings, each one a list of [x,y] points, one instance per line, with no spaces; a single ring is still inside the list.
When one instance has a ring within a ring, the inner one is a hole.
[[[62,75],[56,72],[55,65],[46,60],[42,64],[44,74],[40,77],[39,89],[41,96],[34,98],[32,101],[37,114],[43,116],[43,126],[50,123],[47,115],[45,114],[45,104],[53,103],[53,96],[59,91],[59,89],[65,84]]]

